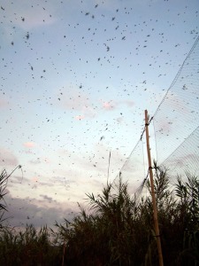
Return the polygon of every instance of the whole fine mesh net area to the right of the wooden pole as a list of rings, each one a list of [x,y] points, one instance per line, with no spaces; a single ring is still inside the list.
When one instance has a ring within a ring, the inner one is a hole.
[[[157,163],[176,175],[198,173],[199,38],[154,114]],[[178,166],[178,168],[177,168]]]

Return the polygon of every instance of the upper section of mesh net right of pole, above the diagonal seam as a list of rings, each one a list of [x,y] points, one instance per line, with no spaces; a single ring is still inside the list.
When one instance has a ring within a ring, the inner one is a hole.
[[[199,38],[188,53],[179,73],[154,114],[157,163],[162,164],[170,154],[199,125]],[[194,143],[193,143],[194,145]],[[183,157],[188,155],[184,149]],[[176,158],[177,160],[177,158]]]

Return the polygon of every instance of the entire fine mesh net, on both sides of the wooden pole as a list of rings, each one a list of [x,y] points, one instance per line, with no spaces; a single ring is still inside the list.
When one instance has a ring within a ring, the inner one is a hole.
[[[184,175],[186,171],[199,176],[198,111],[199,37],[152,119],[156,139],[156,145],[151,144],[156,146],[154,157],[157,157],[157,166],[166,168],[171,177]],[[150,125],[149,128],[151,129]],[[142,193],[149,174],[143,133],[114,180],[115,182],[119,176],[122,177],[122,181],[128,183],[129,192],[135,193],[135,198],[139,198]]]

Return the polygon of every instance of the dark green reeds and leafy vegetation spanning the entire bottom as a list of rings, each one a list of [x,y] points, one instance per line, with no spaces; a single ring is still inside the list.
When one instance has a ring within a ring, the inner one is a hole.
[[[166,171],[155,166],[158,223],[165,265],[199,265],[199,181],[187,173],[173,189]],[[4,172],[3,172],[4,174]],[[3,176],[1,176],[1,180]],[[1,183],[0,212],[5,210]],[[57,231],[27,225],[16,232],[1,226],[0,265],[158,265],[153,209],[149,196],[139,202],[119,177],[97,195],[88,193],[73,222],[56,223]],[[3,201],[3,202],[2,202]],[[0,224],[2,224],[0,222]]]

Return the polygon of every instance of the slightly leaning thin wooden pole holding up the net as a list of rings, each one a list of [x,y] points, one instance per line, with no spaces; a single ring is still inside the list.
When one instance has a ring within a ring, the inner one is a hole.
[[[149,120],[148,120],[148,111],[145,110],[145,130],[146,130],[146,140],[147,140],[147,153],[148,153],[148,160],[149,160],[149,176],[150,176],[150,187],[151,187],[151,194],[152,194],[152,202],[153,202],[153,218],[154,218],[154,225],[156,231],[156,238],[157,238],[157,252],[159,258],[159,265],[164,266],[163,262],[163,254],[162,254],[162,247],[159,235],[159,225],[157,219],[157,202],[155,197],[155,190],[153,184],[153,171],[151,166],[151,157],[150,157],[150,147],[149,147]]]

